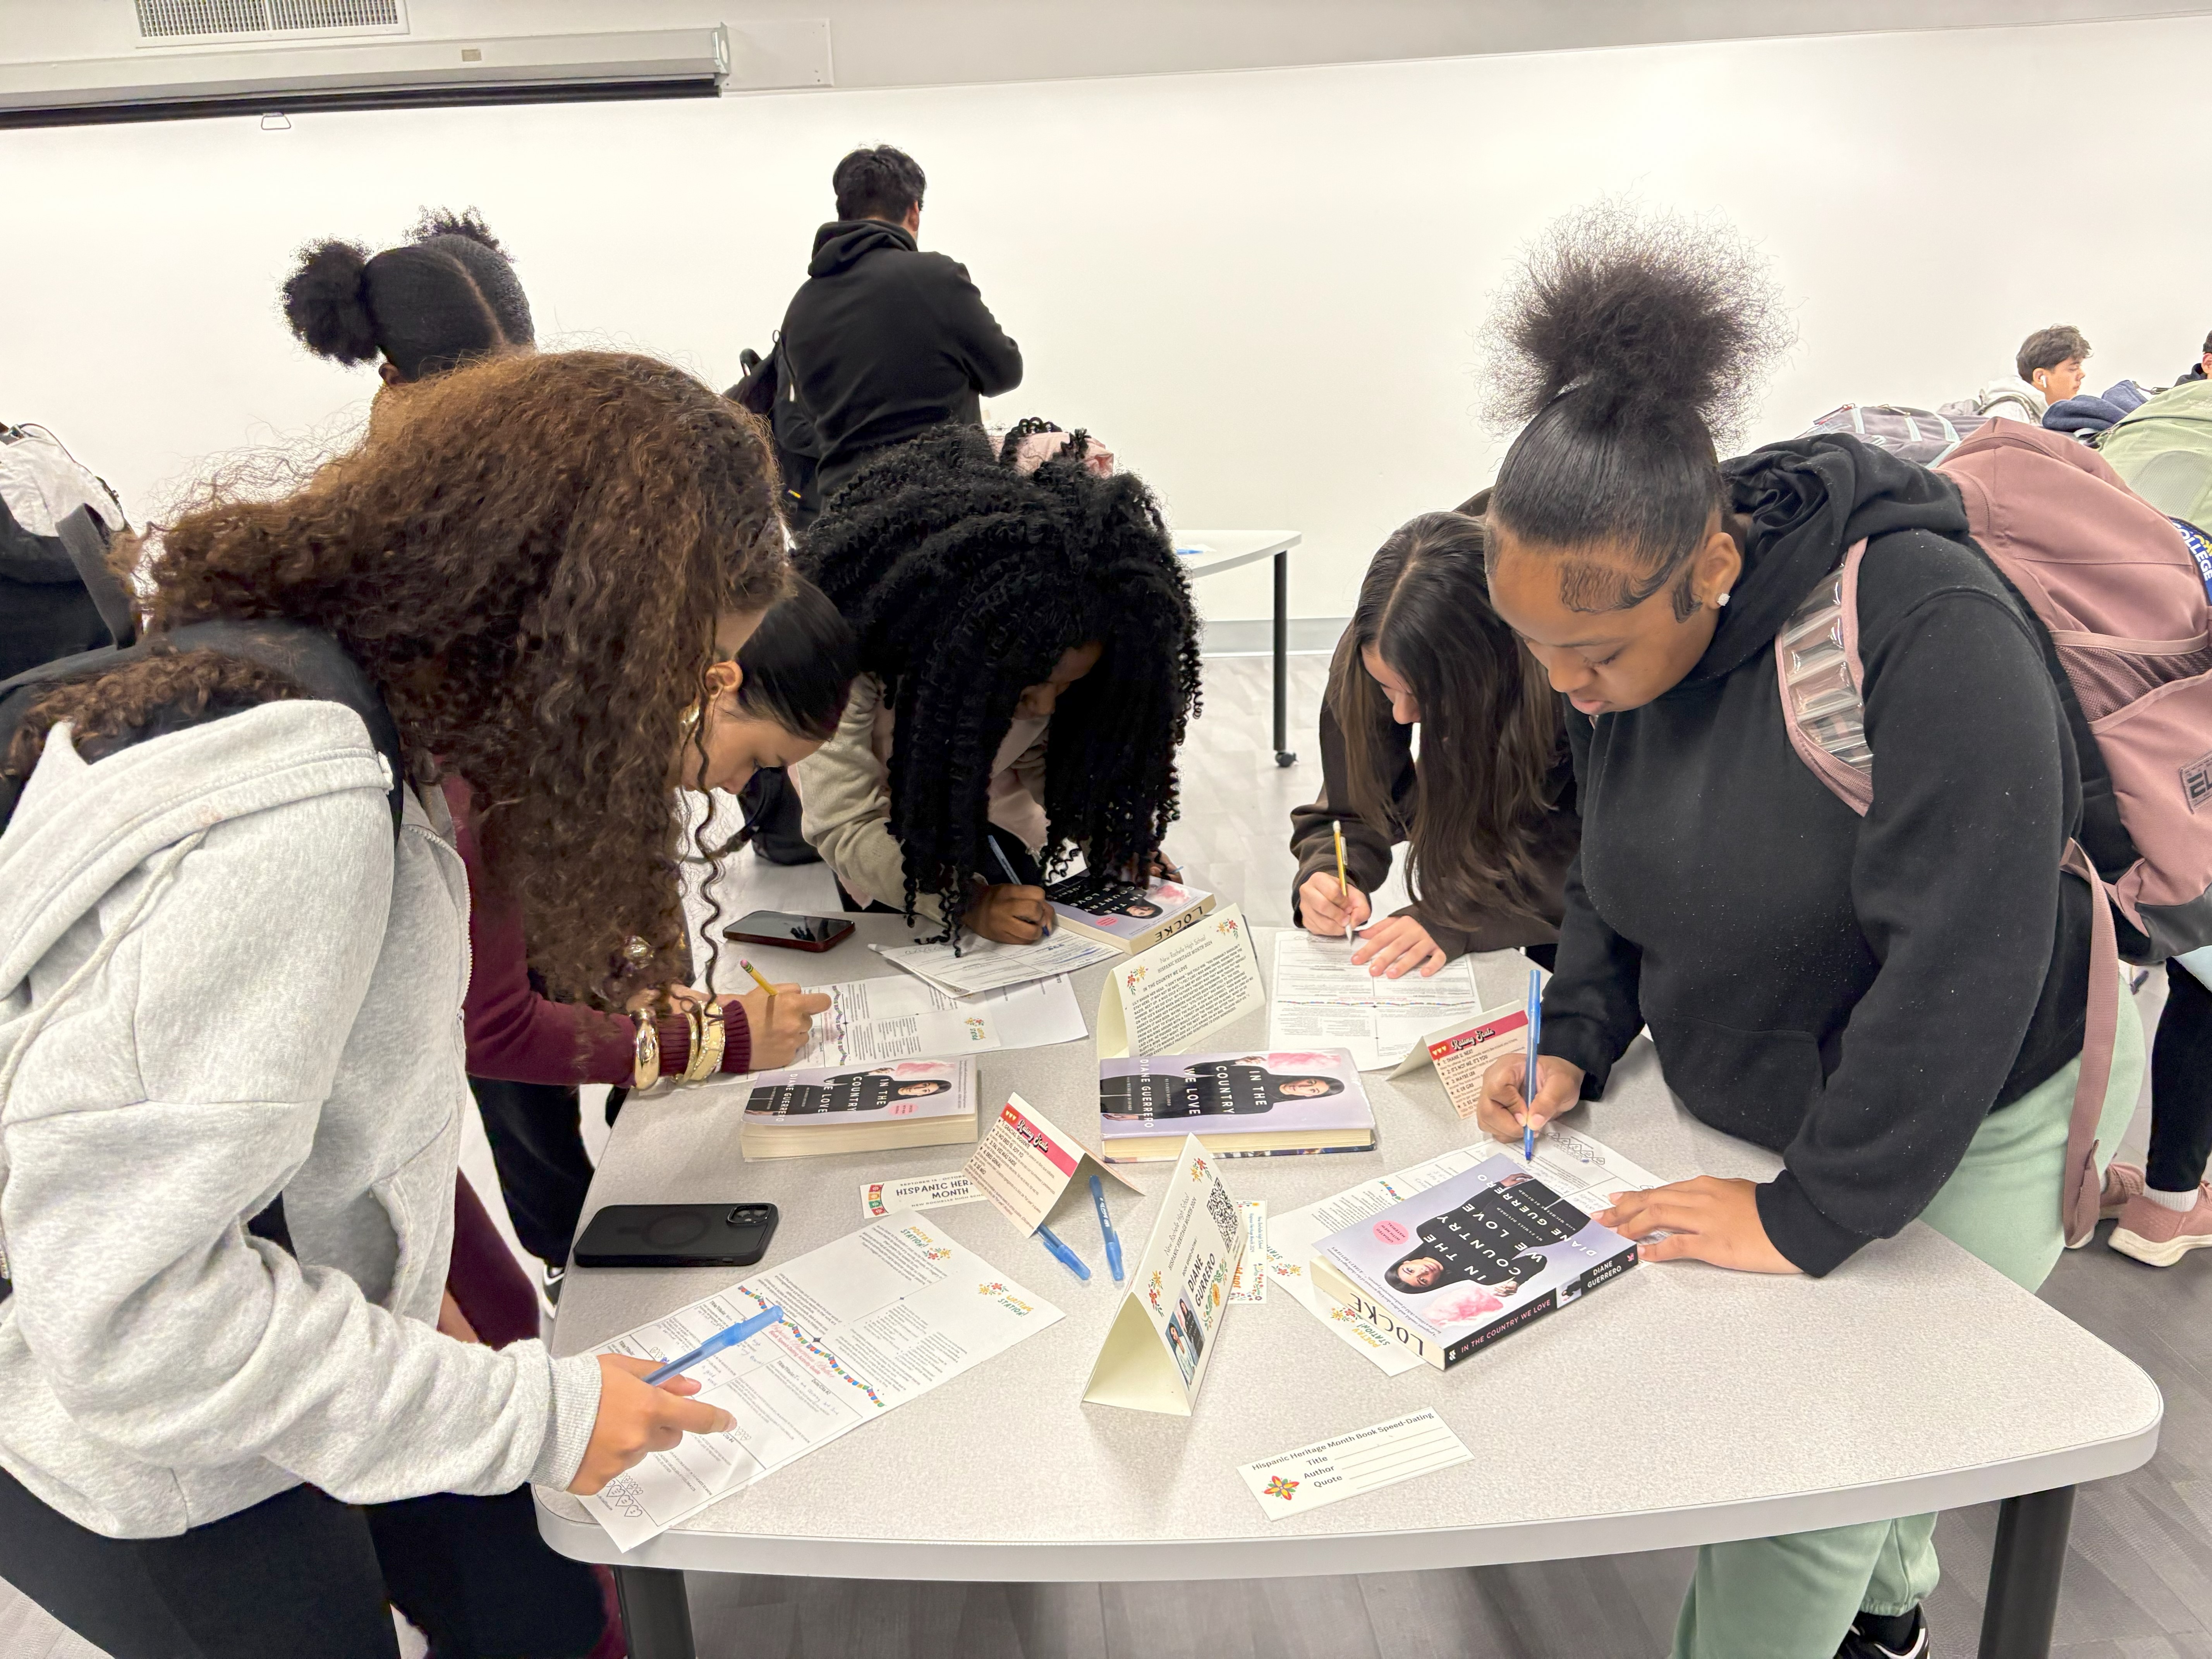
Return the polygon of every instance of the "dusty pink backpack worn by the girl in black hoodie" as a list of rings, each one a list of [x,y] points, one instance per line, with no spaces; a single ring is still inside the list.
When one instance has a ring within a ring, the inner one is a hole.
[[[2110,887],[2079,845],[2064,858],[2099,896],[2059,1194],[2066,1239],[2079,1243],[2097,1225],[2097,1117],[2119,1029],[2108,902],[2150,938],[2152,958],[2212,945],[2212,597],[2181,531],[2064,434],[1997,418],[1938,471],[1958,484],[1973,540],[2048,628],[2137,852]],[[1874,803],[1858,659],[1865,551],[1851,546],[1774,637],[1790,743],[1860,814]]]

